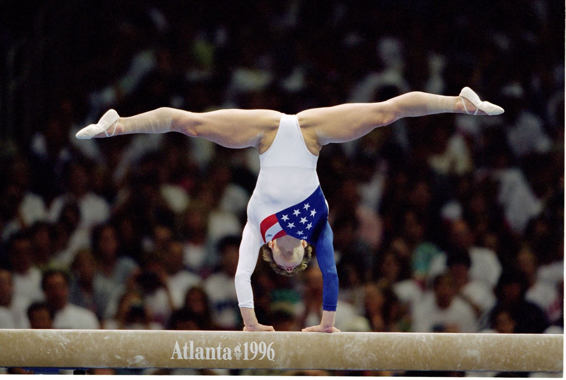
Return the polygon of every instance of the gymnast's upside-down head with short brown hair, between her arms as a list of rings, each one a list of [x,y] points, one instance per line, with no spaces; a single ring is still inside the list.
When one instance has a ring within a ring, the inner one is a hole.
[[[261,246],[261,256],[278,274],[292,276],[306,269],[314,247],[306,240],[285,235]]]

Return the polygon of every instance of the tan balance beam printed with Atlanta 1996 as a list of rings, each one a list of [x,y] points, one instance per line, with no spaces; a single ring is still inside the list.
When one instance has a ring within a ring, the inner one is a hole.
[[[563,335],[0,330],[0,367],[558,372]]]

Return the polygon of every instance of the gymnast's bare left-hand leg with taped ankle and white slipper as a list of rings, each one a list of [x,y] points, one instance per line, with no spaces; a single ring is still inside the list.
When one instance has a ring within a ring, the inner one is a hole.
[[[106,134],[181,132],[187,136],[203,137],[227,148],[247,148],[258,147],[264,133],[277,129],[281,119],[281,113],[272,110],[231,109],[194,113],[169,107],[127,118],[119,117],[113,110],[106,114],[98,124],[81,129],[77,137],[89,139],[106,137]]]

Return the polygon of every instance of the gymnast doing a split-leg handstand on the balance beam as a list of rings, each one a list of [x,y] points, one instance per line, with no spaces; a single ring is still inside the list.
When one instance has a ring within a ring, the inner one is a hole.
[[[358,139],[376,127],[409,116],[438,113],[498,115],[503,109],[481,101],[469,87],[460,96],[410,92],[379,103],[350,103],[285,115],[272,110],[218,110],[192,113],[161,107],[121,118],[106,112],[97,124],[78,133],[78,139],[127,133],[181,132],[203,137],[227,148],[258,148],[260,172],[247,206],[247,223],[239,248],[235,287],[244,331],[274,331],[258,322],[250,277],[261,250],[265,261],[280,274],[305,270],[312,246],[323,274],[323,314],[320,325],[303,331],[339,332],[334,327],[338,276],[334,261],[328,204],[320,189],[316,161],[329,143]]]

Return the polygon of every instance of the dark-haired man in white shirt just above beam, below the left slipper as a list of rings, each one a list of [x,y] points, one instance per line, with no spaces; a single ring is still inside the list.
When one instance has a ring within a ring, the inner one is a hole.
[[[91,310],[69,303],[69,278],[62,270],[48,270],[41,279],[45,301],[53,310],[55,329],[100,329]]]

